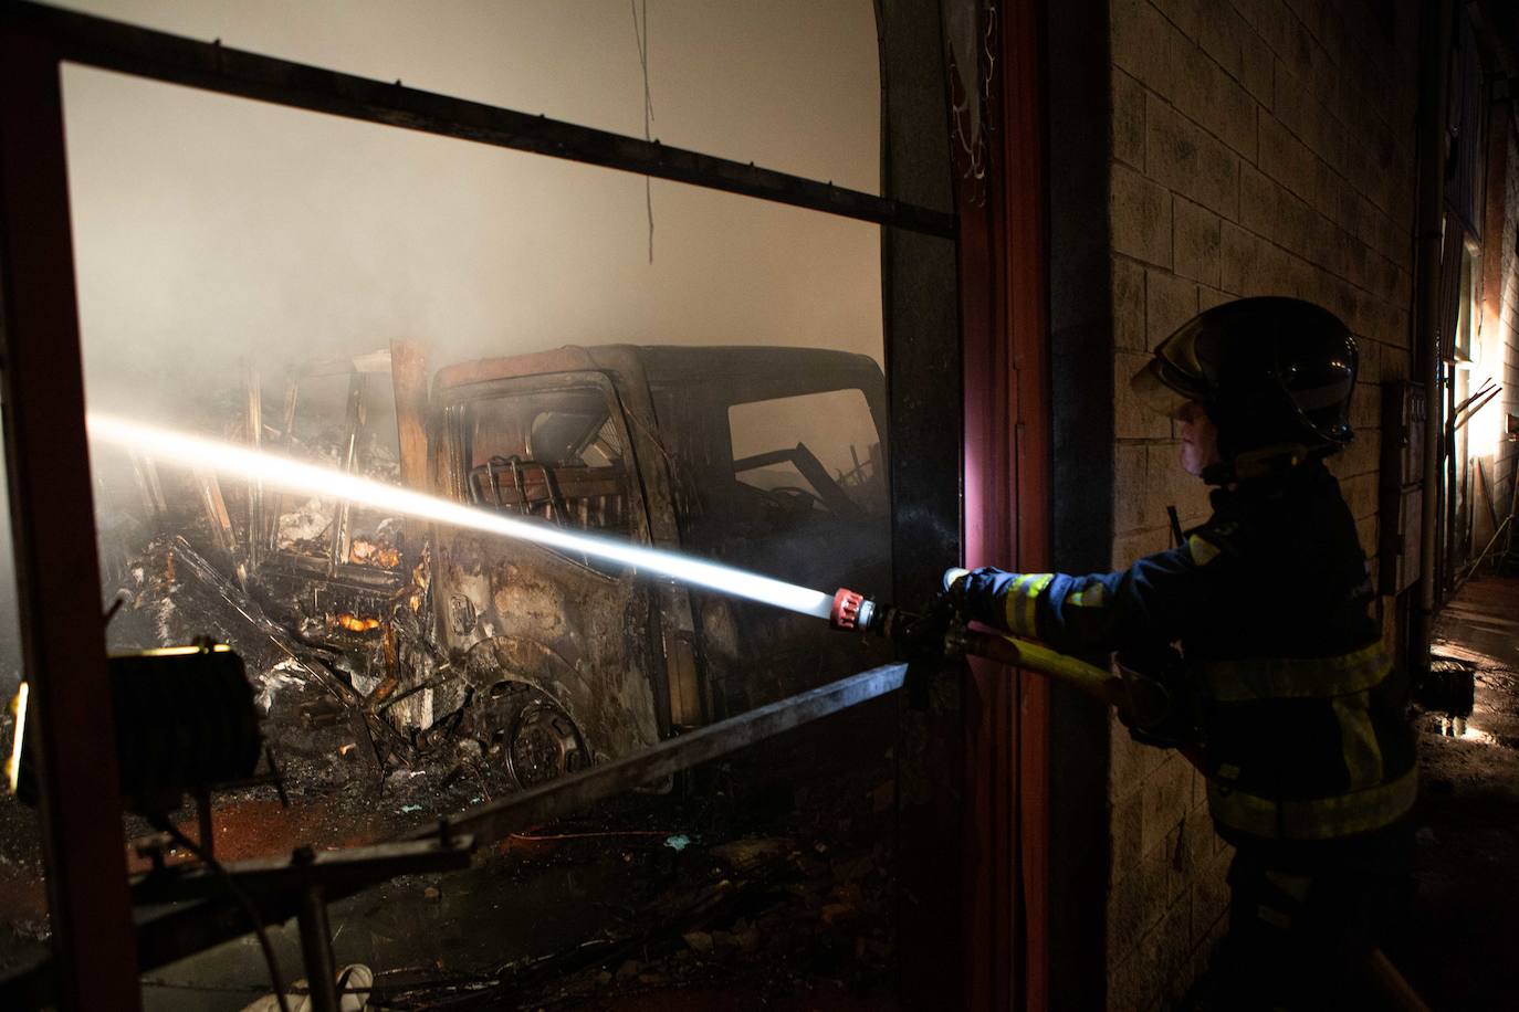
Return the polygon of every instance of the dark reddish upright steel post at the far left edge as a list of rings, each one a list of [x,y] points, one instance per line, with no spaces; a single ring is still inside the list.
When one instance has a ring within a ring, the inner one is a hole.
[[[58,58],[9,18],[0,96],[0,387],[55,983],[64,1009],[137,1009]]]

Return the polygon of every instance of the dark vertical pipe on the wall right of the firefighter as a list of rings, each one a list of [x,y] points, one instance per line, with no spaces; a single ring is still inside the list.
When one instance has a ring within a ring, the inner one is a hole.
[[[1425,445],[1423,445],[1423,508],[1419,517],[1419,608],[1413,636],[1419,668],[1428,665],[1429,640],[1435,611],[1435,534],[1438,511],[1435,484],[1440,472],[1440,250],[1443,235],[1440,218],[1445,208],[1445,120],[1446,64],[1451,55],[1451,0],[1438,0],[1425,8],[1425,52],[1420,59],[1420,135],[1419,135],[1419,288],[1417,326],[1423,332],[1425,378]],[[1417,346],[1417,343],[1416,343]]]

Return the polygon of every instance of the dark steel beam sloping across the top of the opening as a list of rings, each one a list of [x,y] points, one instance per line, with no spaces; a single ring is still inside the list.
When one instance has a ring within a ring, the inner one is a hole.
[[[6,24],[47,36],[62,59],[90,67],[351,120],[567,158],[890,225],[910,232],[939,237],[952,237],[955,232],[954,215],[943,211],[760,168],[753,162],[714,158],[667,147],[659,141],[644,141],[544,115],[419,91],[404,86],[399,80],[374,80],[245,53],[222,46],[220,39],[199,42],[38,3],[3,3],[0,18]]]

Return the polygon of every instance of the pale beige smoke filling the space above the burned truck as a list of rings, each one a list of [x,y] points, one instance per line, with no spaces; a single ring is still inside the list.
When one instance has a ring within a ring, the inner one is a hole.
[[[643,130],[620,0],[64,6]],[[650,3],[653,135],[878,191],[876,61],[869,0]],[[612,341],[881,358],[870,225],[655,181],[650,264],[639,176],[84,67],[65,67],[64,97],[91,410],[204,425],[237,408],[243,363],[273,379],[392,338],[434,367]],[[122,496],[102,475],[105,522]]]

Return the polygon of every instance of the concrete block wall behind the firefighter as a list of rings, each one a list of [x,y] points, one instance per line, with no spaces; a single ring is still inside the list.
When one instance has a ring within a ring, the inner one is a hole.
[[[1208,514],[1130,375],[1256,294],[1318,302],[1361,343],[1360,435],[1332,469],[1375,549],[1376,384],[1411,364],[1416,21],[1413,2],[1110,0],[1115,566],[1170,545],[1168,504],[1183,526]],[[1116,721],[1112,739],[1107,1004],[1154,1009],[1223,932],[1230,853],[1185,760]]]

